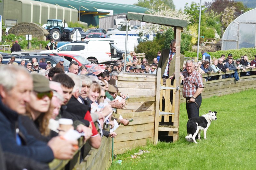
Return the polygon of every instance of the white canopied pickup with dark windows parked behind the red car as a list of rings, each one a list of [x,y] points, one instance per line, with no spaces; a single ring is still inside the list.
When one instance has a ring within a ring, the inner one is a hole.
[[[71,42],[56,50],[46,50],[40,53],[68,53],[83,56],[92,63],[104,63],[111,60],[109,41]]]

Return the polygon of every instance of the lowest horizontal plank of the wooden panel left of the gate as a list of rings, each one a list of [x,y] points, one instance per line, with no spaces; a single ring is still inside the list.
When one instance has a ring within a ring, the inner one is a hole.
[[[138,139],[138,140],[130,140],[124,142],[115,142],[114,143],[114,150],[126,149],[126,148],[134,148],[138,146],[147,145],[147,140],[150,143],[153,143],[154,138],[145,138],[145,139]]]

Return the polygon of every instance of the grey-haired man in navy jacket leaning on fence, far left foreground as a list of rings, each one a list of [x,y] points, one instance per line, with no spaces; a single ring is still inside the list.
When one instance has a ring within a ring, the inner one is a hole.
[[[54,158],[71,159],[77,141],[55,137],[48,143],[41,142],[29,136],[20,122],[19,116],[25,114],[26,104],[31,100],[33,82],[29,73],[15,66],[1,66],[0,72],[0,142],[4,152],[45,163]]]

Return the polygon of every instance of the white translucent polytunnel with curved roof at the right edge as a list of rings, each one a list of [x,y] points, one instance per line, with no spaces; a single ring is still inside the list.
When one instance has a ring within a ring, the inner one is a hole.
[[[221,50],[256,47],[256,8],[245,12],[228,25]]]

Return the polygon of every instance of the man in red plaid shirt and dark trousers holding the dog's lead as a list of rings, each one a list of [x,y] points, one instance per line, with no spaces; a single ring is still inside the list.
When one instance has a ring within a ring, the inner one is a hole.
[[[201,92],[204,90],[204,84],[202,75],[195,71],[192,60],[187,60],[186,69],[187,71],[180,73],[182,75],[181,78],[184,76],[182,95],[186,98],[188,119],[190,119],[191,117],[199,116],[199,107],[202,103]]]

